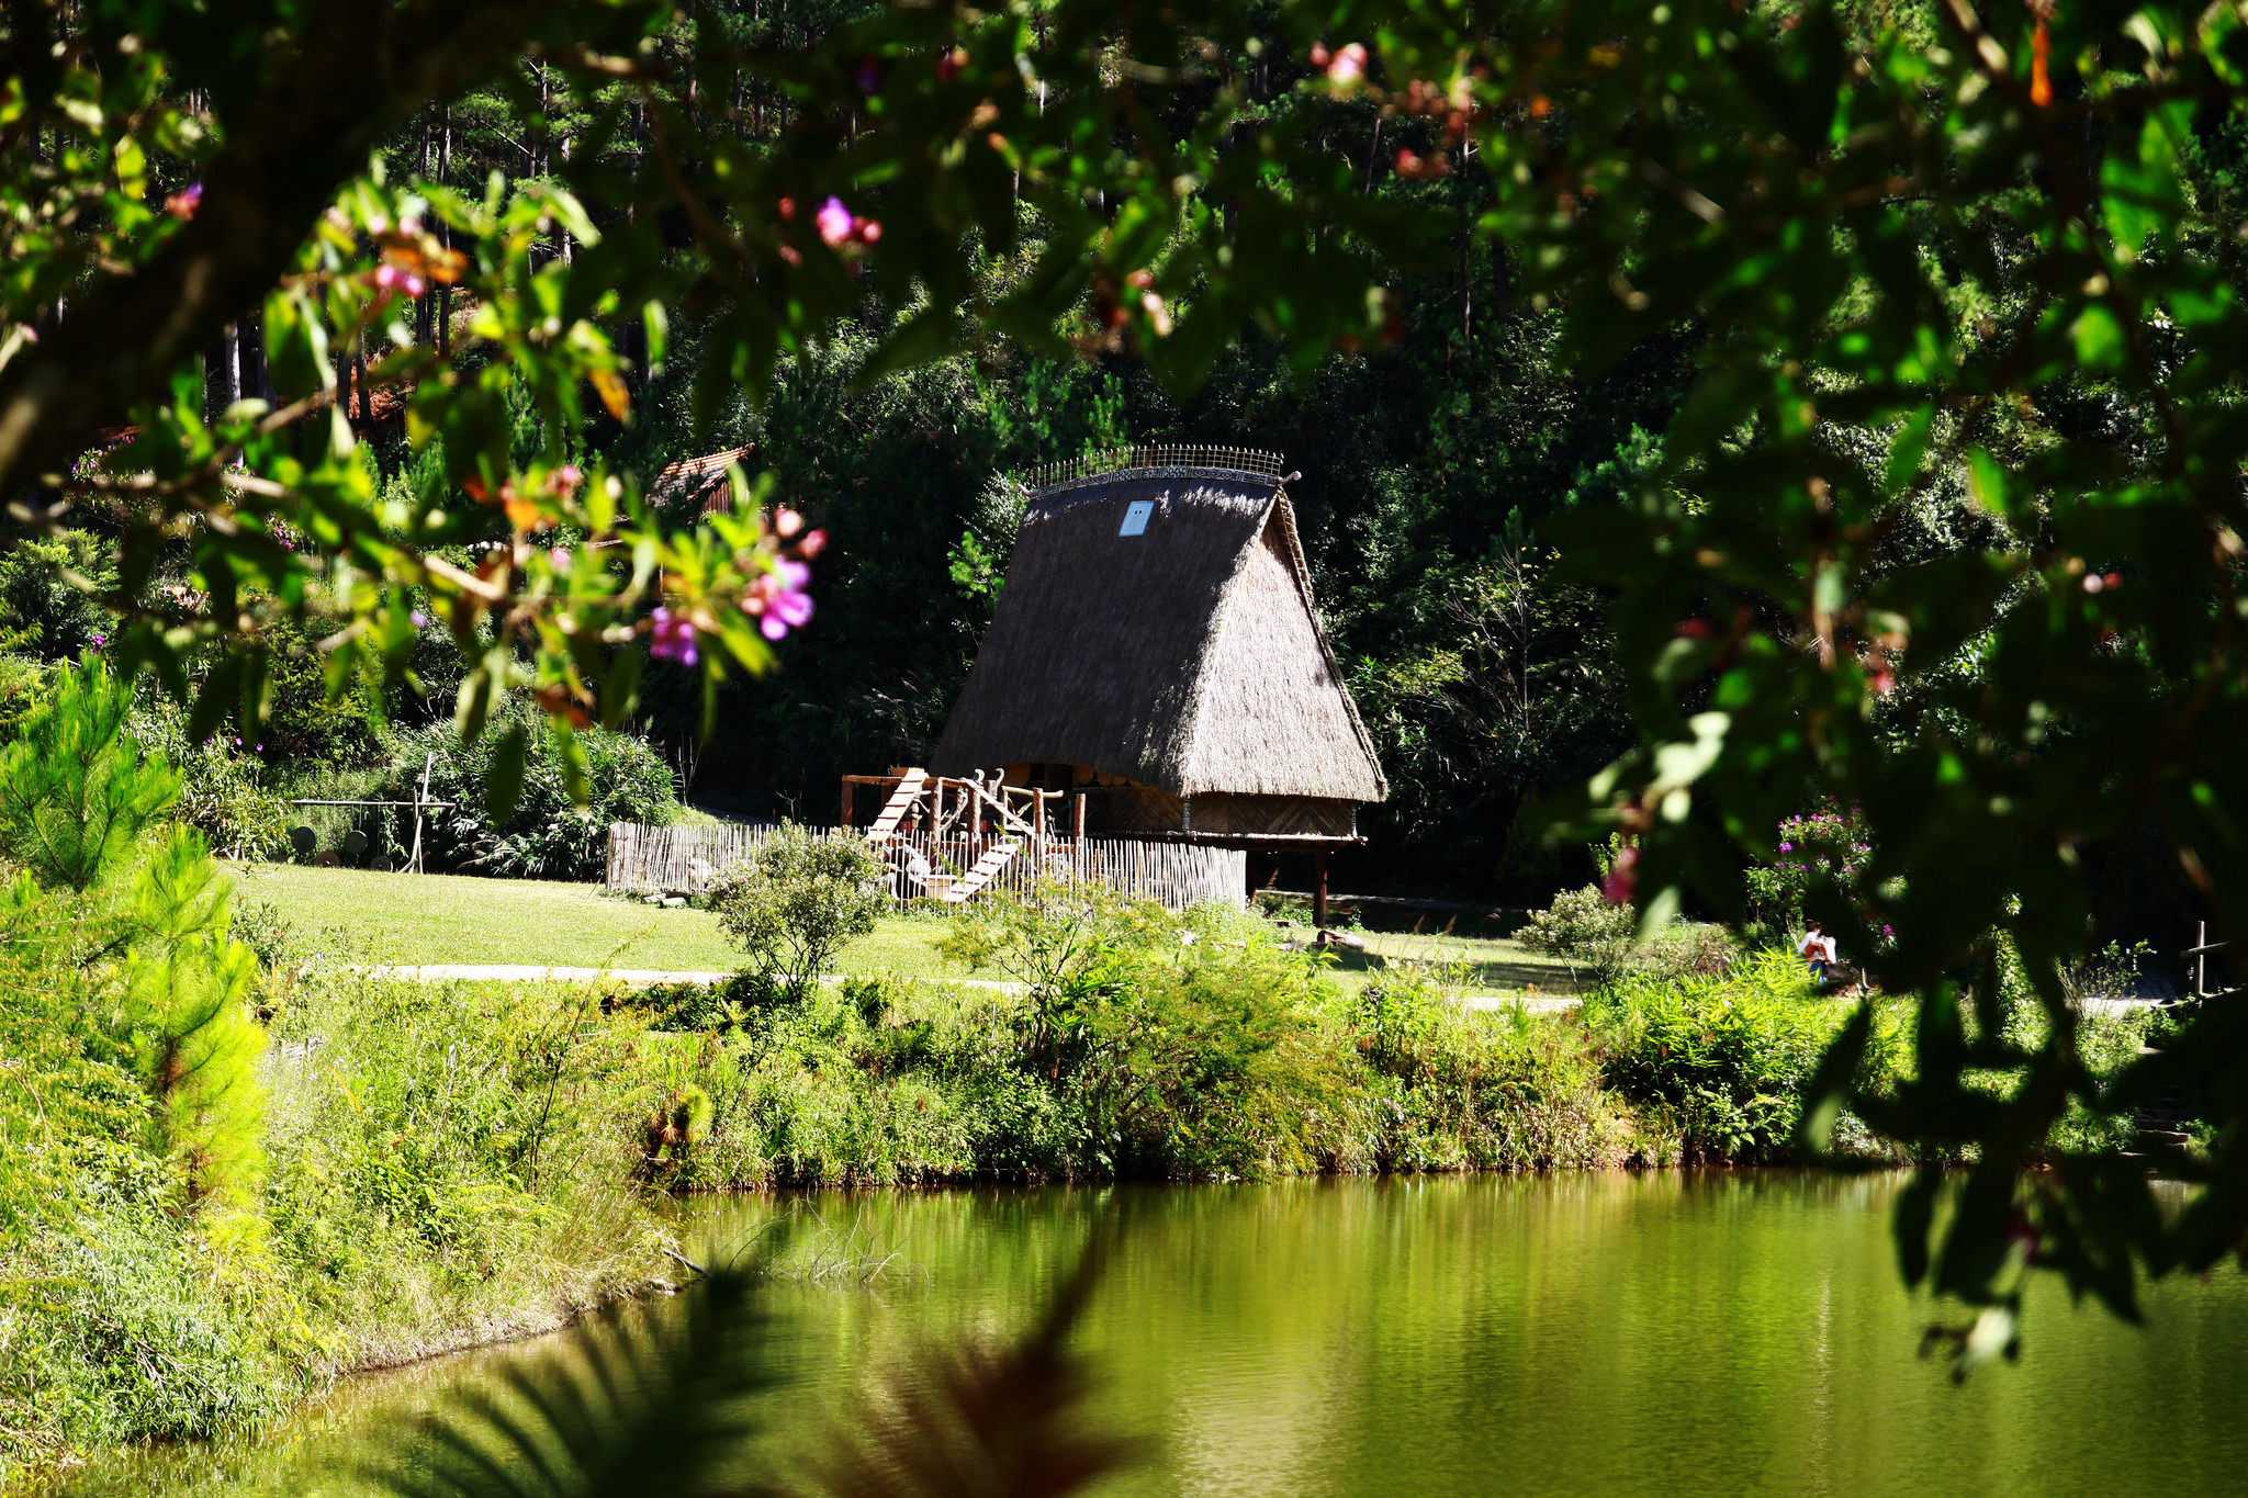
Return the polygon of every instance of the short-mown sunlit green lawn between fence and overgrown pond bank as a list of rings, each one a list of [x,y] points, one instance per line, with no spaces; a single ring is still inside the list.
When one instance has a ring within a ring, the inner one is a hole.
[[[454,874],[369,874],[297,865],[236,865],[236,898],[265,903],[301,939],[364,961],[551,963],[555,968],[661,968],[701,972],[742,966],[706,910],[620,901],[600,885]],[[1295,928],[1297,934],[1304,928]],[[886,919],[843,952],[845,972],[888,968],[908,977],[964,977],[931,950],[944,925]],[[1477,993],[1574,993],[1569,970],[1513,941],[1367,932],[1367,952],[1342,950],[1351,981],[1387,959],[1457,961]],[[998,977],[985,972],[978,977]]]

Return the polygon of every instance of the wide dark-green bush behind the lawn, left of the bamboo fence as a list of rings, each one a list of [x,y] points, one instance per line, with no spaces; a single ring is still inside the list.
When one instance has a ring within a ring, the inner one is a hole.
[[[528,732],[524,791],[515,811],[495,820],[486,784],[492,752],[510,728]],[[645,739],[582,728],[575,743],[584,755],[584,806],[571,802],[562,750],[544,716],[524,698],[510,698],[504,712],[492,714],[474,743],[461,743],[452,723],[398,734],[393,768],[373,800],[414,800],[429,764],[429,797],[452,802],[452,811],[436,813],[423,833],[423,858],[432,871],[593,880],[607,867],[611,822],[665,826],[679,815],[679,800],[670,766]]]

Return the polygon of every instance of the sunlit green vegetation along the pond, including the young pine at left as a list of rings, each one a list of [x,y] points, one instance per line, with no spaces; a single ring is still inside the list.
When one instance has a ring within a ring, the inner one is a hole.
[[[870,923],[879,867],[803,838],[719,901],[753,961],[717,988],[411,984],[272,921],[238,941],[130,707],[65,672],[0,755],[0,1480],[652,1285],[668,1190],[1774,1161],[1850,1022],[1787,954],[1641,966],[1540,1020],[1463,1008],[1445,963],[1342,981],[1254,914],[1061,885],[924,923],[1014,986],[776,981]],[[1996,997],[2039,1024],[2019,979]],[[1906,1011],[1868,1096],[1909,1080]],[[2091,1026],[2088,1065],[2145,1031]]]

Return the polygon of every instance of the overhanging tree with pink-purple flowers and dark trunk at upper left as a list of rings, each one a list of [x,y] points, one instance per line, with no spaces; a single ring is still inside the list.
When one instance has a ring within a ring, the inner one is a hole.
[[[591,440],[634,420],[665,308],[704,314],[704,409],[870,308],[870,375],[998,332],[1137,346],[1189,386],[1248,326],[1304,362],[1378,339],[1376,256],[1439,222],[1353,191],[1308,137],[1306,106],[1369,67],[1362,43],[1306,63],[1308,11],[1284,22],[1304,81],[1268,99],[1223,65],[1252,43],[1225,2],[877,9],[787,52],[722,13],[34,0],[0,20],[0,494],[29,526],[117,517],[119,669],[189,696],[189,656],[225,647],[191,739],[256,716],[277,611],[333,624],[335,683],[398,681],[447,629],[468,734],[508,687],[564,746],[623,723],[650,656],[706,685],[767,669],[812,618],[821,532],[764,519],[749,474],[731,508],[665,521]],[[573,101],[578,150],[481,195],[373,159],[425,103],[524,65]],[[214,409],[198,355],[245,321],[270,398]],[[409,494],[362,436],[378,393],[441,456]],[[187,582],[153,588],[182,552]],[[524,764],[506,732],[499,800]]]

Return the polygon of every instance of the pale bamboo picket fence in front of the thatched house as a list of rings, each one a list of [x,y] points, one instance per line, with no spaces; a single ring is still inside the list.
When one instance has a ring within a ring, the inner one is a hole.
[[[699,894],[731,865],[749,858],[778,826],[643,826],[609,824],[607,887],[620,894]],[[861,831],[816,829],[825,838],[863,840]],[[1248,853],[1241,849],[1135,838],[933,838],[899,833],[877,842],[890,865],[890,898],[899,910],[917,901],[944,898],[976,862],[1005,842],[1023,847],[1000,865],[976,894],[1005,889],[1027,894],[1041,878],[1090,880],[1171,910],[1227,901],[1239,905],[1248,889]],[[973,896],[971,896],[973,898]]]

